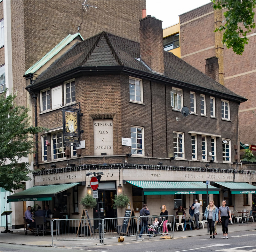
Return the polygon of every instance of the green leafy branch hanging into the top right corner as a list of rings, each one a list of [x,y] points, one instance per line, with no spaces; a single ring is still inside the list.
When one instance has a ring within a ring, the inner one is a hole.
[[[236,54],[242,55],[244,44],[248,44],[246,34],[255,28],[254,12],[256,0],[211,0],[214,9],[227,8],[224,12],[225,24],[215,29],[223,32],[222,43],[232,47]]]

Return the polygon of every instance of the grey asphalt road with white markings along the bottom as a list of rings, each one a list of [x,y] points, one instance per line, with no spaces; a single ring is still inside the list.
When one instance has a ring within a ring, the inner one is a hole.
[[[123,243],[104,244],[92,247],[77,248],[52,248],[28,245],[15,245],[0,243],[0,252],[4,251],[94,251],[94,252],[185,252],[185,251],[202,251],[202,252],[256,252],[256,233],[255,231],[234,232],[228,235],[229,239],[222,239],[222,234],[216,235],[216,239],[209,239],[210,235],[194,236],[186,238],[160,239],[154,237],[140,241],[132,241],[131,237],[125,238]],[[108,243],[106,241],[106,243]]]

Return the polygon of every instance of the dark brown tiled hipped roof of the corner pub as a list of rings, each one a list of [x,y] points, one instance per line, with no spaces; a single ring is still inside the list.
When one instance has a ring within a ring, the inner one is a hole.
[[[192,89],[208,89],[209,92],[215,91],[220,94],[235,96],[242,101],[246,100],[170,52],[164,51],[164,75],[153,73],[143,62],[138,60],[139,57],[140,44],[138,42],[102,32],[77,43],[46,69],[30,86],[33,88],[36,84],[77,67],[124,66],[135,71],[142,71],[145,74],[150,73],[151,76],[164,77],[165,82],[168,82],[168,79],[170,82],[184,82],[186,85],[189,84]]]

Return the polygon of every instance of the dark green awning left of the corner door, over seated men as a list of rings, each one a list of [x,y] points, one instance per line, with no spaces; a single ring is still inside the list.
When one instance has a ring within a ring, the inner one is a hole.
[[[52,200],[56,194],[66,191],[71,187],[77,186],[79,183],[34,186],[21,192],[7,196],[7,203],[12,201],[41,201]]]

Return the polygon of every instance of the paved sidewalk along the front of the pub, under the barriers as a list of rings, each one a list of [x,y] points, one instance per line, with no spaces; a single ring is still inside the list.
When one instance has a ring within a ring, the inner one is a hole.
[[[1,228],[1,231],[4,231],[4,227]],[[13,233],[0,233],[0,242],[4,243],[12,243],[12,244],[22,244],[22,245],[32,245],[32,246],[42,246],[42,247],[51,247],[52,246],[52,237],[51,235],[47,236],[35,236],[35,235],[25,235],[24,228],[21,229],[10,229]],[[249,231],[249,230],[256,230],[256,222],[252,224],[249,222],[248,224],[233,224],[228,225],[228,233],[230,233],[229,238],[232,239],[232,233],[238,231]],[[29,232],[30,233],[30,232]],[[222,227],[221,225],[217,225],[217,235],[216,237],[222,237]],[[201,228],[200,230],[186,230],[186,231],[174,231],[174,239],[184,238],[189,236],[199,236],[199,235],[207,235],[207,239],[209,238],[209,233],[207,233],[207,226],[205,228]],[[144,236],[144,240],[134,241],[135,236],[125,237],[125,243],[129,242],[141,242],[149,240],[147,235]],[[161,236],[156,236],[150,239],[150,241],[159,240]],[[118,244],[117,238],[105,239],[105,244]],[[54,241],[53,244],[56,247],[68,247],[68,248],[75,248],[75,247],[92,247],[92,246],[100,246],[99,240],[89,240],[89,241]]]

